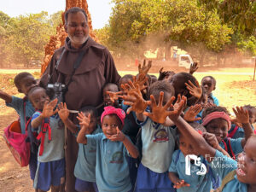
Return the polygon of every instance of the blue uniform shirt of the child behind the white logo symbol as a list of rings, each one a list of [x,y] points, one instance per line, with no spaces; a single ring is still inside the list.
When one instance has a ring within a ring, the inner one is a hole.
[[[169,167],[169,172],[175,172],[177,173],[177,176],[180,179],[183,179],[186,183],[189,183],[189,187],[182,187],[180,189],[177,189],[177,192],[206,192],[210,191],[212,189],[212,177],[217,177],[216,172],[212,172],[212,176],[209,173],[209,168],[207,168],[207,173],[205,175],[197,175],[196,172],[199,172],[201,170],[200,166],[195,166],[194,164],[190,165],[190,174],[185,174],[185,168],[186,168],[186,161],[185,156],[183,153],[179,150],[176,150],[172,154],[172,163]],[[177,160],[177,155],[179,155]],[[201,162],[204,160],[202,156]]]

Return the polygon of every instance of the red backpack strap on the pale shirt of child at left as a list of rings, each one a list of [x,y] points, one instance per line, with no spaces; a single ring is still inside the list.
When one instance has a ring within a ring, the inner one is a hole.
[[[41,113],[41,112],[39,112],[39,113]],[[44,153],[44,139],[45,139],[45,134],[47,131],[48,131],[48,139],[50,141],[51,140],[51,128],[49,126],[49,119],[45,118],[41,125],[41,131],[37,137],[38,140],[41,139],[39,156],[41,156]]]

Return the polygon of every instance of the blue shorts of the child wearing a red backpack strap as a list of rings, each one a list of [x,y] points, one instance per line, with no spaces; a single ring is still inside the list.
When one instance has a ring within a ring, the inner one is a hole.
[[[60,186],[61,177],[65,177],[65,159],[40,162],[37,189],[48,191],[51,185]]]

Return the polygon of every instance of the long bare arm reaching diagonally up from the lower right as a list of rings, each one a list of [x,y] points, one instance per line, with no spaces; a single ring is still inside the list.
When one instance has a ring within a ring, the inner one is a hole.
[[[169,118],[177,125],[178,131],[186,137],[193,146],[196,148],[198,152],[205,156],[208,162],[212,161],[212,158],[215,156],[216,149],[212,148],[193,127],[191,127],[183,118],[179,116],[179,114],[183,111],[183,106],[186,102],[186,97],[183,96],[182,100],[177,104],[177,113],[172,113],[169,115]]]

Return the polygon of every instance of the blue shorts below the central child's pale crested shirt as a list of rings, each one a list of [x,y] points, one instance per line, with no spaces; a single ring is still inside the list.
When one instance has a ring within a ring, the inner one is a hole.
[[[168,172],[153,172],[141,163],[137,170],[137,192],[175,192]]]

